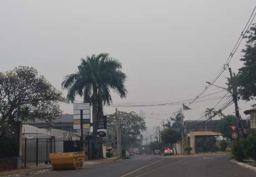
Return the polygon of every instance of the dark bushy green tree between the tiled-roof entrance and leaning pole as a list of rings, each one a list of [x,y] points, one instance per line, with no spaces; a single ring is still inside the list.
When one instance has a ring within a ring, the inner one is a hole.
[[[237,118],[233,115],[224,116],[222,123],[219,124],[219,132],[222,133],[223,137],[231,139],[231,134],[233,133],[230,125],[235,125],[237,123]]]

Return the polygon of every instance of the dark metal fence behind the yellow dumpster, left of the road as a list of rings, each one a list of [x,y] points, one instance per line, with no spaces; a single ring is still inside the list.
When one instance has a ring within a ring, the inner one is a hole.
[[[27,163],[49,163],[50,153],[79,152],[81,150],[80,136],[77,132],[65,132],[63,138],[23,138],[23,166]],[[92,136],[84,136],[83,151],[87,159],[92,159]]]

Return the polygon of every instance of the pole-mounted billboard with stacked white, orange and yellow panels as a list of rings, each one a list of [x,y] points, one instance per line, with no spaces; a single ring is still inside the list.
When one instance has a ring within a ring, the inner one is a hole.
[[[73,128],[81,129],[81,110],[83,112],[83,129],[90,131],[91,129],[91,107],[90,103],[74,103],[73,104]]]

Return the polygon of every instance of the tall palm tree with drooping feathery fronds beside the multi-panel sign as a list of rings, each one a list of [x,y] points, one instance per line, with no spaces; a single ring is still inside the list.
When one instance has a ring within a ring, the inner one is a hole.
[[[127,95],[124,86],[126,74],[121,69],[122,64],[114,58],[109,58],[108,54],[93,54],[91,57],[81,59],[78,71],[65,76],[62,82],[62,88],[68,90],[68,102],[74,102],[76,95],[79,95],[83,97],[84,102],[92,104],[93,158],[99,157],[98,120],[103,116],[103,105],[109,105],[112,102],[111,90],[116,91],[121,98]]]

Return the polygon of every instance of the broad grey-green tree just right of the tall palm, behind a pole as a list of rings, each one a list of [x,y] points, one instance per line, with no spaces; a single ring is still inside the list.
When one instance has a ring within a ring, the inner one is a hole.
[[[107,141],[116,147],[116,114],[109,114],[107,118]],[[139,147],[142,144],[142,132],[147,127],[142,117],[135,112],[119,112],[121,117],[121,144],[123,149]]]

